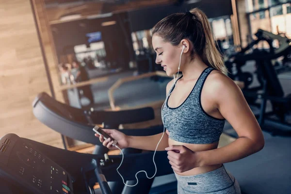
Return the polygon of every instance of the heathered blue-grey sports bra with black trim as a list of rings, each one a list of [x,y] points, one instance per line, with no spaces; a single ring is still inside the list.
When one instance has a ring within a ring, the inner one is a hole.
[[[219,141],[225,119],[214,118],[207,114],[200,100],[202,87],[212,70],[214,68],[207,67],[201,73],[189,96],[177,108],[169,108],[169,95],[167,95],[165,105],[162,107],[162,119],[165,115],[163,123],[170,132],[170,139],[189,144],[211,144]],[[174,88],[175,85],[169,93]]]

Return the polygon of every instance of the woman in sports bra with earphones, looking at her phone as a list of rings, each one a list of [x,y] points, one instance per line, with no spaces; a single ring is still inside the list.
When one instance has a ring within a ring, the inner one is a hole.
[[[239,183],[223,163],[258,152],[264,146],[259,124],[240,88],[229,79],[210,29],[207,16],[199,9],[172,14],[155,25],[152,44],[156,63],[167,75],[181,72],[166,87],[162,107],[163,133],[137,137],[108,130],[119,147],[167,150],[178,180],[178,194],[240,194]],[[218,147],[225,120],[239,138]],[[103,141],[110,149],[112,141]]]

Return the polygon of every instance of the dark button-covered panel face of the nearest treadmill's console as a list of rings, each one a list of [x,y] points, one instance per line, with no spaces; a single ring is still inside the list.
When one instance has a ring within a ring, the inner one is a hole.
[[[63,168],[26,144],[16,144],[8,168],[20,179],[45,194],[72,194],[70,178]]]

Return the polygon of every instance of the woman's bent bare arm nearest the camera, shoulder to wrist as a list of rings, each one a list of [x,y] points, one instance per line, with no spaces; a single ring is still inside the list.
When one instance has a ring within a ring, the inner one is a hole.
[[[217,109],[231,124],[239,138],[227,146],[196,152],[199,166],[232,162],[261,150],[264,138],[259,123],[243,97],[241,89],[228,77],[213,74],[209,80]]]

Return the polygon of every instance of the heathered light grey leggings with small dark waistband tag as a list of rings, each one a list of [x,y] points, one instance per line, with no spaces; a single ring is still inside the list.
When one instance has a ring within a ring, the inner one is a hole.
[[[199,175],[175,175],[178,194],[241,194],[238,181],[226,171],[224,165]]]

